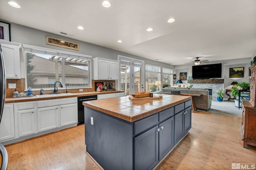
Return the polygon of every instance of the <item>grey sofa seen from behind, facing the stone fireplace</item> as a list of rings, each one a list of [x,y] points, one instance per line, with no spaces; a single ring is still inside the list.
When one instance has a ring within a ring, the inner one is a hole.
[[[187,94],[202,94],[199,97],[194,97],[196,109],[204,109],[207,111],[212,106],[212,95],[209,95],[208,89],[202,88],[182,88],[182,87],[165,87],[162,92],[180,91]]]

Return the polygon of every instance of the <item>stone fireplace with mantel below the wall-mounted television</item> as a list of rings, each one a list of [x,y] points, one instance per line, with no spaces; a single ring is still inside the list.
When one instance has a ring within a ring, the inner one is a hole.
[[[224,79],[189,79],[188,84],[193,84],[193,88],[212,89],[212,100],[217,100],[218,91],[223,90]]]

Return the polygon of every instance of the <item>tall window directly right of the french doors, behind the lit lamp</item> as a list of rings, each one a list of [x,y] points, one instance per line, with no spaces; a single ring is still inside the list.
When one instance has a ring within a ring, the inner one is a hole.
[[[161,77],[161,67],[146,65],[146,92],[151,90],[155,92],[157,86],[155,86],[156,81],[160,81]]]

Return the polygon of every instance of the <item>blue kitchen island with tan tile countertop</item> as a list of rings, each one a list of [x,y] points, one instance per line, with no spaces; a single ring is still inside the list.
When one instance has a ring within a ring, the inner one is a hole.
[[[105,170],[150,170],[191,129],[191,97],[83,102],[86,152]]]

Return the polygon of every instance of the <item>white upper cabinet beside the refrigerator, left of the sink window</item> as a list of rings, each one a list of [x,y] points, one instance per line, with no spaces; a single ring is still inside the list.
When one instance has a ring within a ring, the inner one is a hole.
[[[6,78],[20,79],[20,43],[0,41],[4,55]]]

